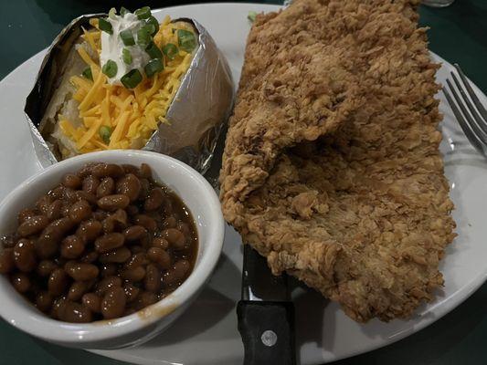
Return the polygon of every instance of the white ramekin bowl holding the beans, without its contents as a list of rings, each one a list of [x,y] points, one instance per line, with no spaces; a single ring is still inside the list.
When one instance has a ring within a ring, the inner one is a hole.
[[[83,349],[116,349],[152,339],[180,316],[196,298],[217,265],[224,238],[224,220],[217,194],[198,172],[171,157],[149,151],[101,151],[56,163],[21,183],[0,203],[0,235],[14,232],[16,214],[33,205],[68,172],[87,162],[128,163],[152,167],[154,178],[169,186],[185,202],[196,222],[199,248],[191,275],[168,297],[130,316],[88,324],[48,318],[0,277],[0,316],[39,339]]]

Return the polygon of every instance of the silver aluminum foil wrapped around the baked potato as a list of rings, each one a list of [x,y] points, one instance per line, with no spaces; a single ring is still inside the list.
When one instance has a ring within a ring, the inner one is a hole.
[[[81,27],[89,28],[90,18],[100,16],[105,15],[79,16],[59,33],[48,48],[34,88],[26,98],[26,120],[43,167],[58,159],[39,131],[40,122],[58,88],[69,51],[82,35]],[[234,84],[227,60],[206,29],[192,19],[173,20],[177,21],[194,26],[199,45],[166,112],[168,123],[159,124],[143,150],[171,155],[205,173],[233,106]]]

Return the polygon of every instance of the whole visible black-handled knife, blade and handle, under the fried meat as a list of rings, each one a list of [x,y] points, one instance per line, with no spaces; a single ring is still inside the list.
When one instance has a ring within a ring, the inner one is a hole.
[[[237,305],[244,365],[295,365],[294,306],[287,276],[273,276],[266,259],[244,245],[242,299]]]

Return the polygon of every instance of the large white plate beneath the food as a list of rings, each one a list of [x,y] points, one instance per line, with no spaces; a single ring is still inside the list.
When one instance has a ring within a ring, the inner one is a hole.
[[[277,9],[275,5],[257,4],[186,5],[158,11],[157,16],[192,17],[206,26],[238,80],[249,32],[249,11]],[[44,52],[40,52],[28,59],[0,82],[0,115],[3,117],[0,198],[40,169],[23,108],[43,56]],[[443,61],[435,55],[432,57]],[[443,63],[438,73],[440,82],[451,69],[450,64]],[[487,103],[482,92],[474,89]],[[445,155],[459,234],[441,263],[446,281],[444,289],[433,303],[419,308],[414,318],[388,324],[372,320],[366,325],[347,318],[335,303],[328,303],[311,290],[301,290],[295,304],[302,365],[346,358],[402,339],[457,307],[484,282],[487,225],[482,213],[487,205],[487,164],[465,139],[442,95],[439,98],[440,110],[445,115],[444,141],[440,148]],[[139,364],[240,365],[243,348],[237,331],[235,304],[240,295],[241,260],[240,237],[228,227],[224,255],[214,276],[196,303],[171,328],[139,348],[95,352]]]

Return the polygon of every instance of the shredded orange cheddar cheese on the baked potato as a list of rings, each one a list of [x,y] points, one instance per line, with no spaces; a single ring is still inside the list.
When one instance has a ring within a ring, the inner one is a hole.
[[[82,76],[73,76],[70,82],[75,92],[72,99],[78,102],[79,121],[69,120],[58,114],[57,120],[61,132],[72,141],[78,153],[111,149],[140,149],[148,141],[159,123],[165,123],[165,114],[175,98],[191,60],[192,53],[179,49],[174,59],[164,59],[164,70],[153,78],[144,78],[135,89],[111,85],[101,72],[98,57],[101,53],[101,31],[98,19],[91,19],[93,29],[83,29],[85,41],[77,48],[79,57],[91,69],[93,80]],[[168,43],[177,45],[177,29],[194,32],[183,22],[171,23],[169,16],[164,18],[159,31],[154,36],[154,43],[164,47]],[[110,142],[101,139],[101,126],[110,127]],[[72,151],[61,148],[63,158],[72,155]]]

